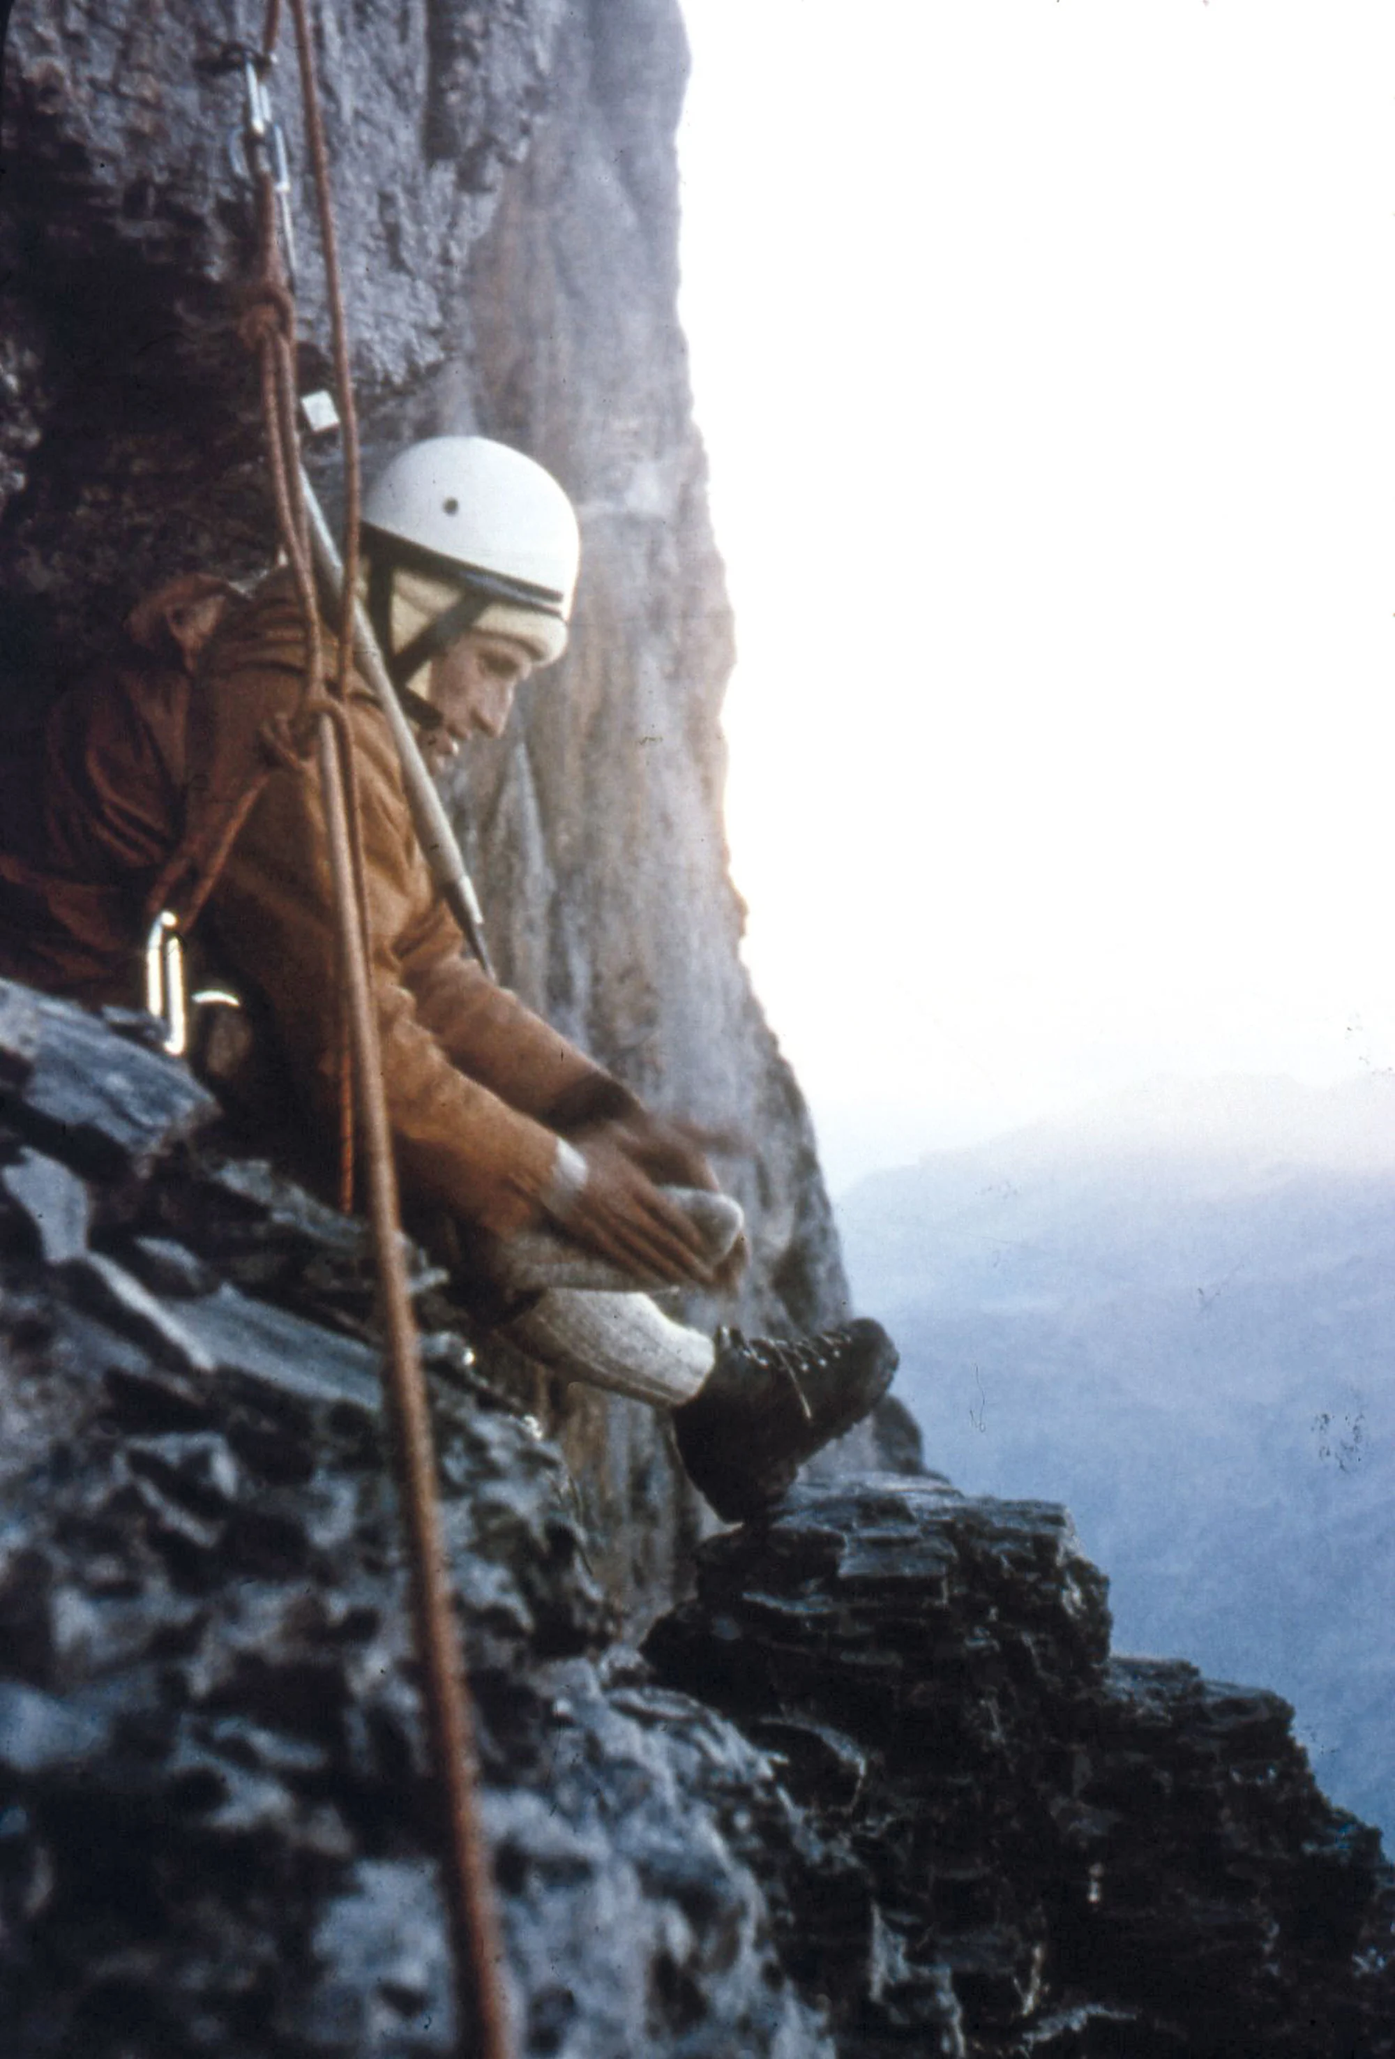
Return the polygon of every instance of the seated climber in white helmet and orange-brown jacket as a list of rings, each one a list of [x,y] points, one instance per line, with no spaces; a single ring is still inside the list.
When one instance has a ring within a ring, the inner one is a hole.
[[[504,445],[438,437],[403,451],[364,502],[364,564],[389,673],[436,766],[473,735],[498,737],[518,686],[566,649],[576,517]],[[290,577],[241,595],[195,574],[130,630],[128,661],[56,706],[41,799],[6,807],[0,974],[136,1001],[146,896],[173,850],[208,859],[259,768],[198,931],[255,1025],[218,1083],[278,1139],[307,1128],[307,1112],[315,1137],[335,1137],[337,951],[319,789],[292,747],[305,632]],[[874,1406],[891,1340],[874,1322],[800,1345],[710,1338],[660,1312],[648,1289],[732,1283],[741,1209],[698,1132],[646,1110],[465,955],[387,721],[356,677],[350,729],[389,1118],[418,1225],[426,1213],[451,1225],[461,1277],[502,1336],[562,1377],[673,1410],[718,1515],[759,1513]]]

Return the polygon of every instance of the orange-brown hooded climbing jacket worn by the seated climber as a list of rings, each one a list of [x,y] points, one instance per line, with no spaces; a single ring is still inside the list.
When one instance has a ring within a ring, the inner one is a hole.
[[[305,636],[290,579],[272,574],[249,599],[220,581],[181,581],[130,630],[130,653],[53,708],[41,801],[6,805],[0,974],[88,1003],[138,1003],[165,892],[198,877],[259,782],[200,927],[270,1019],[292,1093],[335,1137],[339,959],[319,782],[296,758]],[[331,673],[329,632],[323,663]],[[541,1213],[553,1124],[625,1095],[463,953],[418,848],[387,719],[354,675],[348,721],[403,1186],[510,1235]]]

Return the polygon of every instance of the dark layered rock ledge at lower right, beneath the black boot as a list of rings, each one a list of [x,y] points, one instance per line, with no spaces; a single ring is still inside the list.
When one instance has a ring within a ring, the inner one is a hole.
[[[848,1870],[842,1935],[827,1900],[790,1925],[844,2059],[1395,2049],[1376,1833],[1276,1695],[1109,1657],[1062,1509],[800,1487],[702,1548],[646,1653],[772,1750]]]

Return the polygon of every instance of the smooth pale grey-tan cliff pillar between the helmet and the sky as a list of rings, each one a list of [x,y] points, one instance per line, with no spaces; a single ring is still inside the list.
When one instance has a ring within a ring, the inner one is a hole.
[[[844,1283],[802,1100],[737,955],[730,614],[675,313],[683,74],[677,8],[568,14],[549,119],[471,253],[477,422],[568,482],[584,562],[566,667],[475,754],[469,819],[510,984],[658,1106],[737,1132],[718,1163],[755,1225],[743,1318],[788,1328],[827,1320]],[[570,1408],[599,1532],[636,1495],[640,1530],[667,1528],[652,1423],[623,1410],[617,1466],[615,1406],[576,1392]]]

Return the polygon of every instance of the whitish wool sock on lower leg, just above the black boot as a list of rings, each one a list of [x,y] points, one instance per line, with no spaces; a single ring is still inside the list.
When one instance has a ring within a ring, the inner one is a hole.
[[[564,1380],[658,1408],[691,1402],[716,1363],[710,1336],[671,1322],[644,1293],[549,1287],[531,1310],[502,1324],[500,1336]]]

